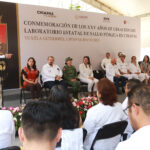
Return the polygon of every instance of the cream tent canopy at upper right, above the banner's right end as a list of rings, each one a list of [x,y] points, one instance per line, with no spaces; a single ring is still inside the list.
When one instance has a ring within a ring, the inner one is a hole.
[[[109,14],[141,18],[141,47],[150,47],[150,0],[83,0]]]

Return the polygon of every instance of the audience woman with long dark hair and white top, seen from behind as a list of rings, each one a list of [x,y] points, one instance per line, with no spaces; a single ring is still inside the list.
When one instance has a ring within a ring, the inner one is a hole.
[[[78,150],[83,147],[83,131],[80,114],[72,105],[71,97],[65,87],[56,85],[51,88],[49,101],[59,107],[62,114],[61,149]]]

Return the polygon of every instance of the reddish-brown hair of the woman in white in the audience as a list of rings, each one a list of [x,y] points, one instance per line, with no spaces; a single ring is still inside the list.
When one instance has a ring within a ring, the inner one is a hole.
[[[114,83],[107,78],[99,80],[97,90],[101,94],[101,101],[104,105],[113,106],[113,104],[118,101],[116,87]]]

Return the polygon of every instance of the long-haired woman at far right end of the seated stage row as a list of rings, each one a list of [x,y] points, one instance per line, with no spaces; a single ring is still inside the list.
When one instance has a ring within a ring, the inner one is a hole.
[[[149,56],[145,55],[143,62],[140,64],[141,72],[149,74],[150,72],[150,62],[149,62]]]

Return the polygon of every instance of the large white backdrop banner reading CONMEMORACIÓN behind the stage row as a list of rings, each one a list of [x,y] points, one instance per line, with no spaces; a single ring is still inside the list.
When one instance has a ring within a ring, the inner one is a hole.
[[[128,61],[140,57],[139,18],[22,4],[18,10],[21,67],[31,56],[39,70],[48,56],[61,68],[70,56],[77,70],[83,56],[90,56],[94,69],[106,52],[124,52]]]

